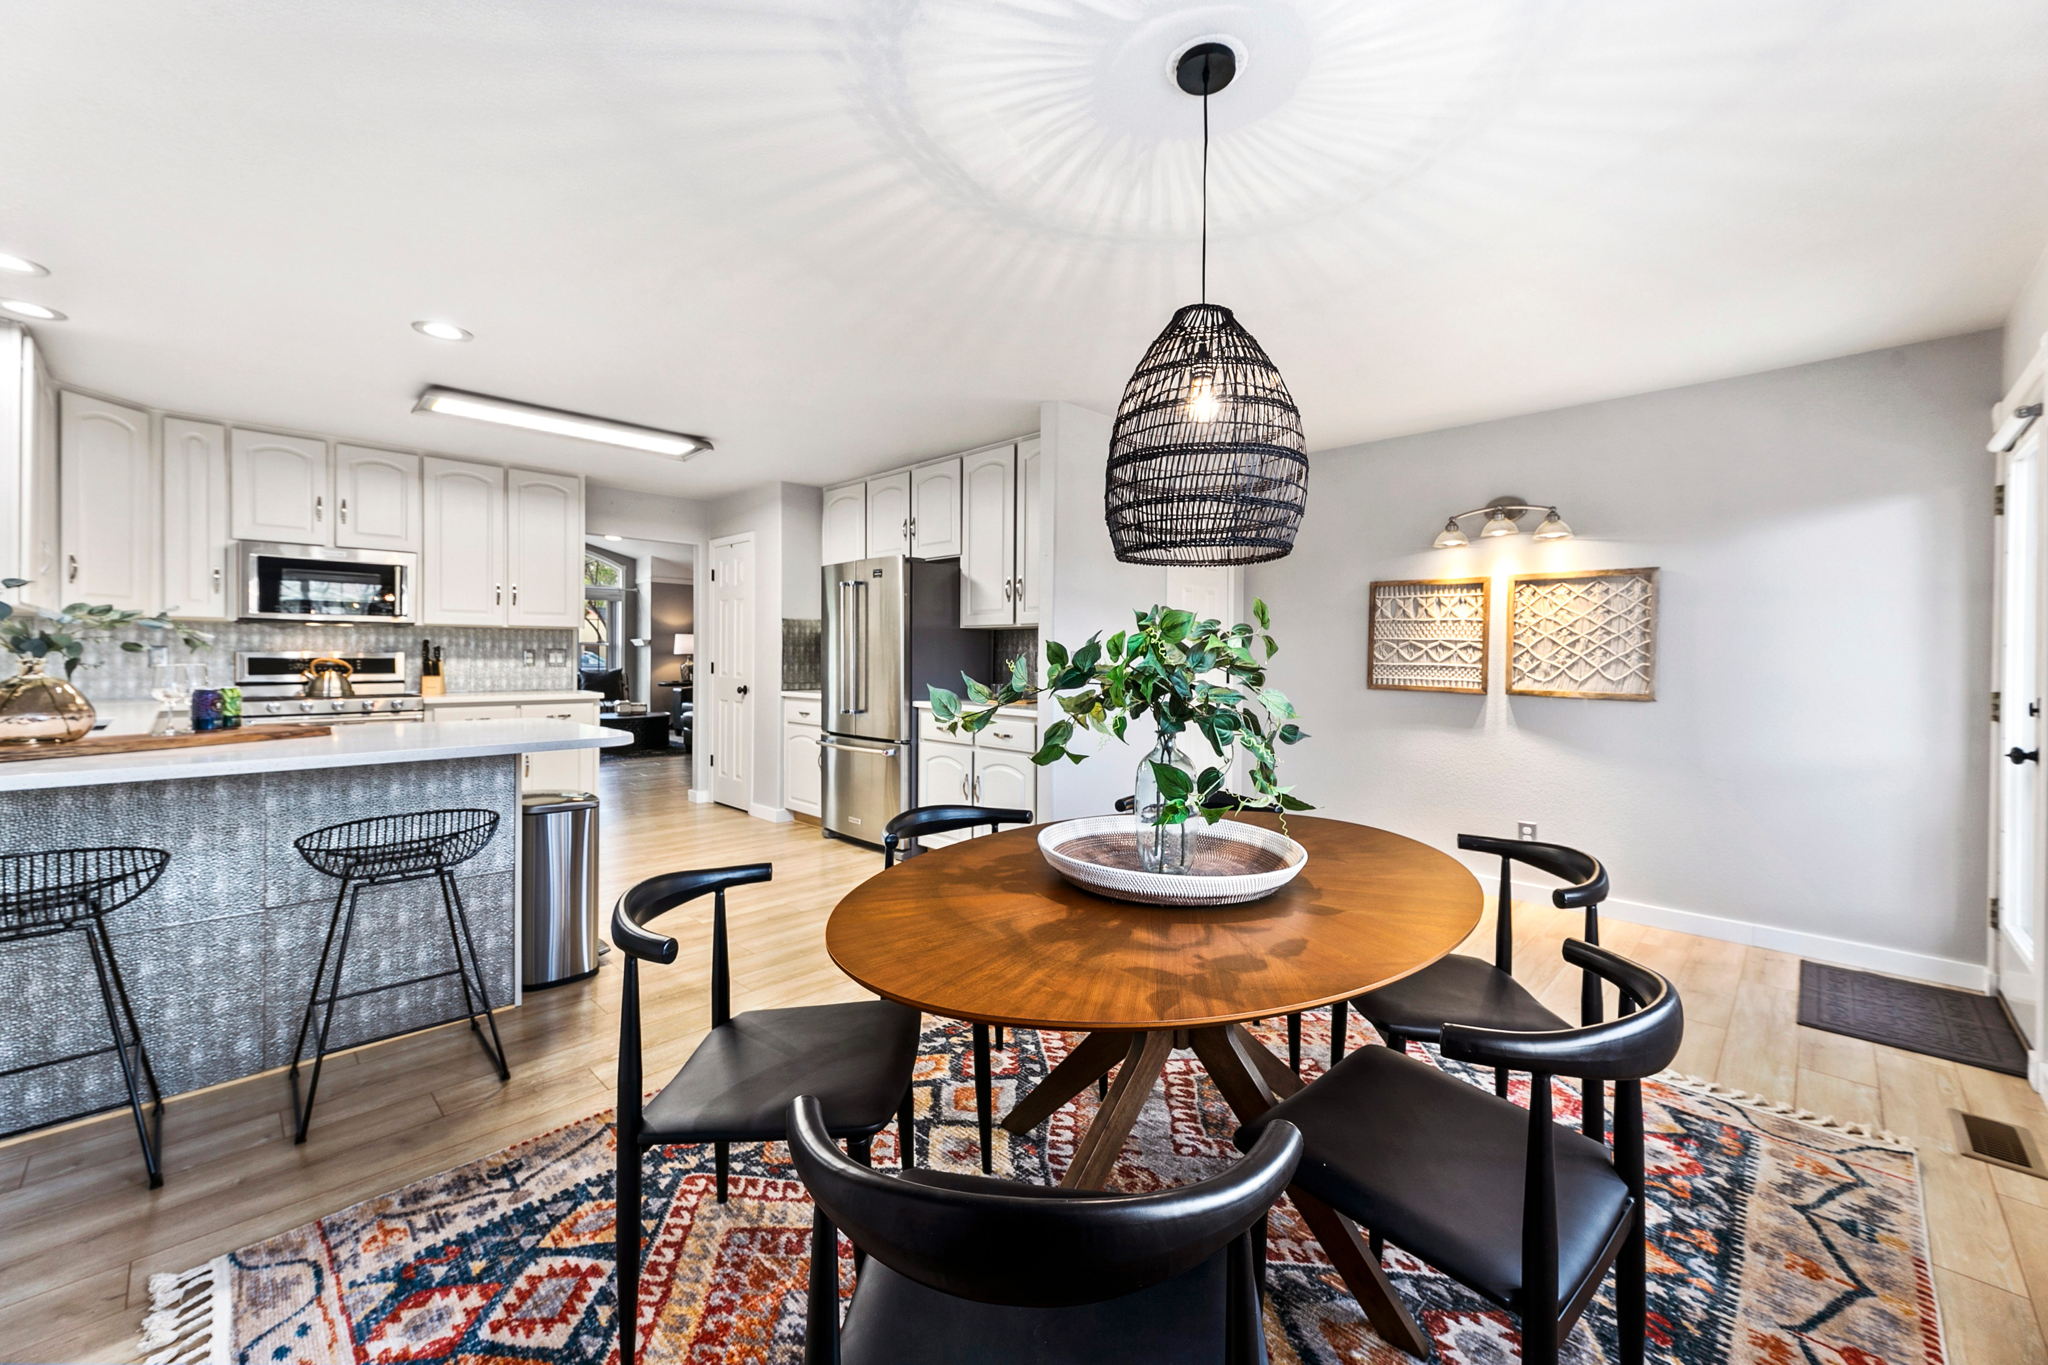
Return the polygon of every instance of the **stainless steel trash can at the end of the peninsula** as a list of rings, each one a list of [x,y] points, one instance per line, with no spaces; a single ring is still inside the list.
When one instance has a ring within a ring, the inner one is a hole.
[[[520,798],[520,982],[528,990],[598,970],[598,798]]]

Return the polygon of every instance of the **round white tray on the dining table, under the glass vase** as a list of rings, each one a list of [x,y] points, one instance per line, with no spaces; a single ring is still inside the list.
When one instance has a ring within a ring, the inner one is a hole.
[[[1237,821],[1196,823],[1194,872],[1145,872],[1130,814],[1090,814],[1038,831],[1038,851],[1083,890],[1139,905],[1243,905],[1270,896],[1309,866],[1309,849],[1286,835]]]

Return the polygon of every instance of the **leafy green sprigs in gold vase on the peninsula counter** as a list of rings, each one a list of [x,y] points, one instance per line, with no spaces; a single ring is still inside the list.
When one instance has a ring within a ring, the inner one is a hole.
[[[0,579],[12,591],[29,579]],[[209,639],[170,620],[170,612],[141,612],[74,602],[63,608],[14,608],[0,602],[0,651],[14,655],[16,673],[0,679],[0,745],[70,743],[92,733],[94,710],[86,694],[72,686],[72,673],[86,659],[86,643],[139,626],[176,634],[186,649],[205,649]],[[141,641],[121,641],[127,653],[147,649]],[[63,677],[51,677],[51,657],[63,659]]]

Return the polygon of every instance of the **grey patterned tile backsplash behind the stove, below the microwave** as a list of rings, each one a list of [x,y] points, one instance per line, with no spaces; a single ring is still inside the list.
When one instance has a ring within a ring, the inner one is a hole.
[[[295,626],[285,622],[195,622],[213,639],[209,649],[186,653],[170,645],[174,663],[199,663],[215,688],[233,681],[242,651],[324,649],[340,655],[403,653],[406,677],[420,681],[420,641],[442,649],[449,692],[541,692],[575,686],[575,630],[496,630],[483,626]],[[137,632],[125,639],[156,643],[166,636]],[[532,663],[526,663],[526,653]],[[549,663],[555,651],[555,663]],[[86,649],[86,665],[72,679],[94,700],[145,698],[154,688],[150,655],[123,653],[113,643]]]

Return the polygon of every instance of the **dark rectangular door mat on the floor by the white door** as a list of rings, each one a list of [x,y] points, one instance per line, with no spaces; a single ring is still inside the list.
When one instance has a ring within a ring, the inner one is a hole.
[[[2028,1074],[2019,1029],[1991,995],[1800,962],[1798,1021],[1944,1062]]]

